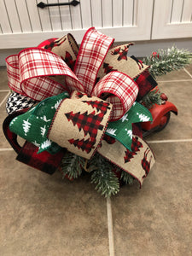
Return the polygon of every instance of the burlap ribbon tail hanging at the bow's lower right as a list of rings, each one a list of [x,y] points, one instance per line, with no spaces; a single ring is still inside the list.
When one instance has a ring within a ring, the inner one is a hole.
[[[108,144],[106,141],[102,140],[102,147],[98,148],[98,153],[125,170],[125,172],[129,172],[133,177],[136,177],[141,186],[143,179],[148,175],[152,166],[154,166],[155,160],[154,154],[148,147],[148,144],[140,137],[137,138],[139,143],[142,143],[143,147],[138,148],[130,159],[128,159],[125,154],[127,149],[118,141],[113,144]],[[143,169],[142,164],[144,158],[148,161],[148,172]]]

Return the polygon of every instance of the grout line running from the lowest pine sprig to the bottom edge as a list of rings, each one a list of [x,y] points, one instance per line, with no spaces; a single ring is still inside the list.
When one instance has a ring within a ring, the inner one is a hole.
[[[114,239],[113,239],[113,218],[111,209],[111,200],[107,198],[107,213],[108,213],[108,247],[109,256],[114,256]]]

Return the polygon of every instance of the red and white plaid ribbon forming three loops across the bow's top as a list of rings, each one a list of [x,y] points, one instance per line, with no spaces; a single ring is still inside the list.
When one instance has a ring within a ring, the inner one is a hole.
[[[85,34],[73,71],[61,59],[46,49],[30,48],[19,55],[9,56],[7,70],[11,90],[42,101],[49,96],[58,95],[63,90],[79,90],[88,95],[102,97],[113,104],[110,120],[116,120],[127,112],[137,98],[137,84],[125,73],[108,73],[96,83],[96,75],[113,44],[113,38],[97,32],[91,27]],[[50,76],[62,76],[65,85]]]

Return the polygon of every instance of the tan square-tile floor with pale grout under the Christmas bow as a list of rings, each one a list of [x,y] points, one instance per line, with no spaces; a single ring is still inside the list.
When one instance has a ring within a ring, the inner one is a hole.
[[[0,130],[0,255],[192,255],[192,65],[159,86],[178,116],[147,138],[156,164],[143,188],[111,200],[89,176],[69,182],[22,165]],[[8,94],[1,68],[1,123]]]

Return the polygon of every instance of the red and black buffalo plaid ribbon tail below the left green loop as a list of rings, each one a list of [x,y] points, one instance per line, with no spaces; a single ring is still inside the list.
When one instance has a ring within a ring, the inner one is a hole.
[[[32,143],[26,142],[23,148],[20,149],[16,160],[42,172],[53,174],[60,166],[64,153],[65,151],[62,149],[56,154],[49,154],[47,151],[38,154],[38,147]]]

